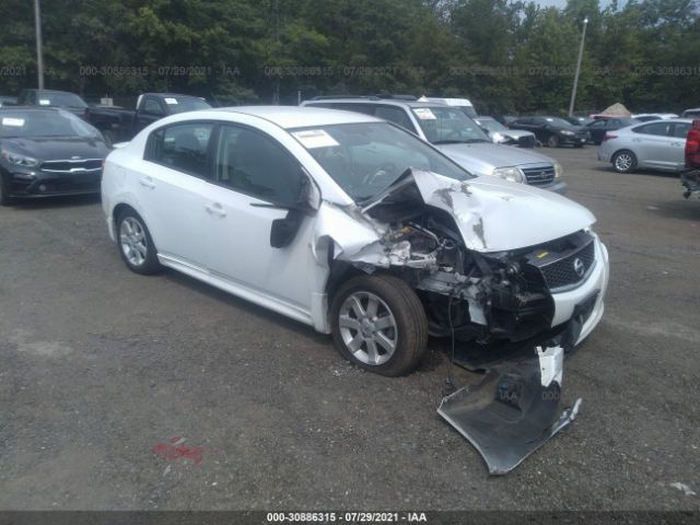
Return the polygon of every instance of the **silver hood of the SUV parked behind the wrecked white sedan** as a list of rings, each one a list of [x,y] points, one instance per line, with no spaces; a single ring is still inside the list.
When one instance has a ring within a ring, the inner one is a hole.
[[[509,130],[502,135],[513,135]],[[532,135],[526,132],[526,135]],[[553,164],[550,158],[510,145],[491,142],[475,142],[474,144],[435,144],[450,159],[476,175],[491,175],[497,167],[523,166],[525,164]]]

